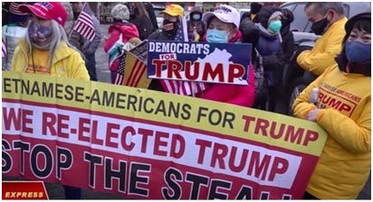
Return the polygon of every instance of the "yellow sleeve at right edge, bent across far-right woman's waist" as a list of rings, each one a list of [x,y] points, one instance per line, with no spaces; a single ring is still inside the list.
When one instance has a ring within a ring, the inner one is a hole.
[[[317,123],[330,136],[350,152],[370,152],[371,101],[365,103],[358,120],[352,120],[333,108],[323,109],[317,116]]]

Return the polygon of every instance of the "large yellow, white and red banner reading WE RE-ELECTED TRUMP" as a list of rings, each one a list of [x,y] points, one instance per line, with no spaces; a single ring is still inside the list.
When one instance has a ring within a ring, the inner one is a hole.
[[[290,116],[3,72],[3,176],[129,198],[301,198],[326,141]]]

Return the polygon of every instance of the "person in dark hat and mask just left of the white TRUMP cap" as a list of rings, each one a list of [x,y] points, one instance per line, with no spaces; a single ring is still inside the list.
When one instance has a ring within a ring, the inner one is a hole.
[[[189,41],[202,41],[206,33],[206,22],[202,20],[202,10],[200,7],[192,9],[186,26]]]

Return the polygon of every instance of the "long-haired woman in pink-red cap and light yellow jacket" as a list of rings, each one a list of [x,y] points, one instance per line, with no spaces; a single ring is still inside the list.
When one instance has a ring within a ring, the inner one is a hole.
[[[12,70],[89,81],[81,53],[72,47],[63,29],[67,18],[63,5],[39,2],[20,5],[19,10],[31,16],[27,33],[14,50]],[[81,188],[63,188],[66,199],[81,198]]]

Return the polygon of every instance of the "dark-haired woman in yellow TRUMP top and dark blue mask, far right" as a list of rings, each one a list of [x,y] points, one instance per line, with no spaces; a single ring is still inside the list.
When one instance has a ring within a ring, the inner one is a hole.
[[[356,198],[368,179],[370,19],[370,13],[363,13],[346,23],[338,64],[326,69],[294,102],[294,115],[316,122],[329,134],[304,199]],[[309,100],[315,87],[319,88],[316,105]]]

